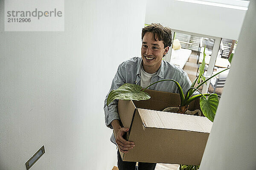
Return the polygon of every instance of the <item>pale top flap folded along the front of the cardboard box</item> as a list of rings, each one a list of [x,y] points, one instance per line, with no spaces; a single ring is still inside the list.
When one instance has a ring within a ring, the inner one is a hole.
[[[161,128],[210,133],[212,122],[206,117],[153,111],[138,108],[140,118],[146,128]]]

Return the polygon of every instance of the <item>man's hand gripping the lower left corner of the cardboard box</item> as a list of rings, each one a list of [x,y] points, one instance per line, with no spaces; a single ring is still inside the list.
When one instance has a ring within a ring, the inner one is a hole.
[[[125,132],[128,132],[128,130],[128,128],[122,127],[116,132],[116,144],[122,153],[128,153],[128,150],[131,150],[135,146],[134,142],[126,141],[123,138]]]

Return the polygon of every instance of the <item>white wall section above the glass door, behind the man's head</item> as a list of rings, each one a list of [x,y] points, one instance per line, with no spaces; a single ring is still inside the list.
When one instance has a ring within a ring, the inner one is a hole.
[[[246,11],[176,0],[147,0],[145,23],[238,40]]]

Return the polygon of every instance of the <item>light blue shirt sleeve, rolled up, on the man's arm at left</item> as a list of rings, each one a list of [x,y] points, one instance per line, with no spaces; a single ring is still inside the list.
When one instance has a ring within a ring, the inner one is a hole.
[[[117,68],[116,71],[116,75],[114,76],[112,83],[111,83],[111,88],[108,91],[108,94],[112,91],[112,90],[116,90],[117,88],[119,88],[121,85],[125,84],[125,67],[120,64],[119,67]],[[108,94],[105,98],[105,102],[104,102],[104,112],[105,112],[105,122],[106,122],[106,126],[110,127],[111,129],[113,129],[111,122],[114,119],[118,119],[120,120],[119,116],[118,116],[118,112],[117,112],[117,103],[118,100],[114,100],[113,102],[111,102],[108,106],[107,106],[107,99],[108,99]]]

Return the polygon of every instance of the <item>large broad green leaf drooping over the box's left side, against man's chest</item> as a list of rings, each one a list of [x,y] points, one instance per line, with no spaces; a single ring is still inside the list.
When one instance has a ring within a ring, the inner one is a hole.
[[[122,100],[150,99],[149,94],[141,91],[141,89],[142,87],[140,85],[125,83],[121,85],[118,89],[113,90],[108,94],[107,105],[109,105],[115,99],[122,99]]]

